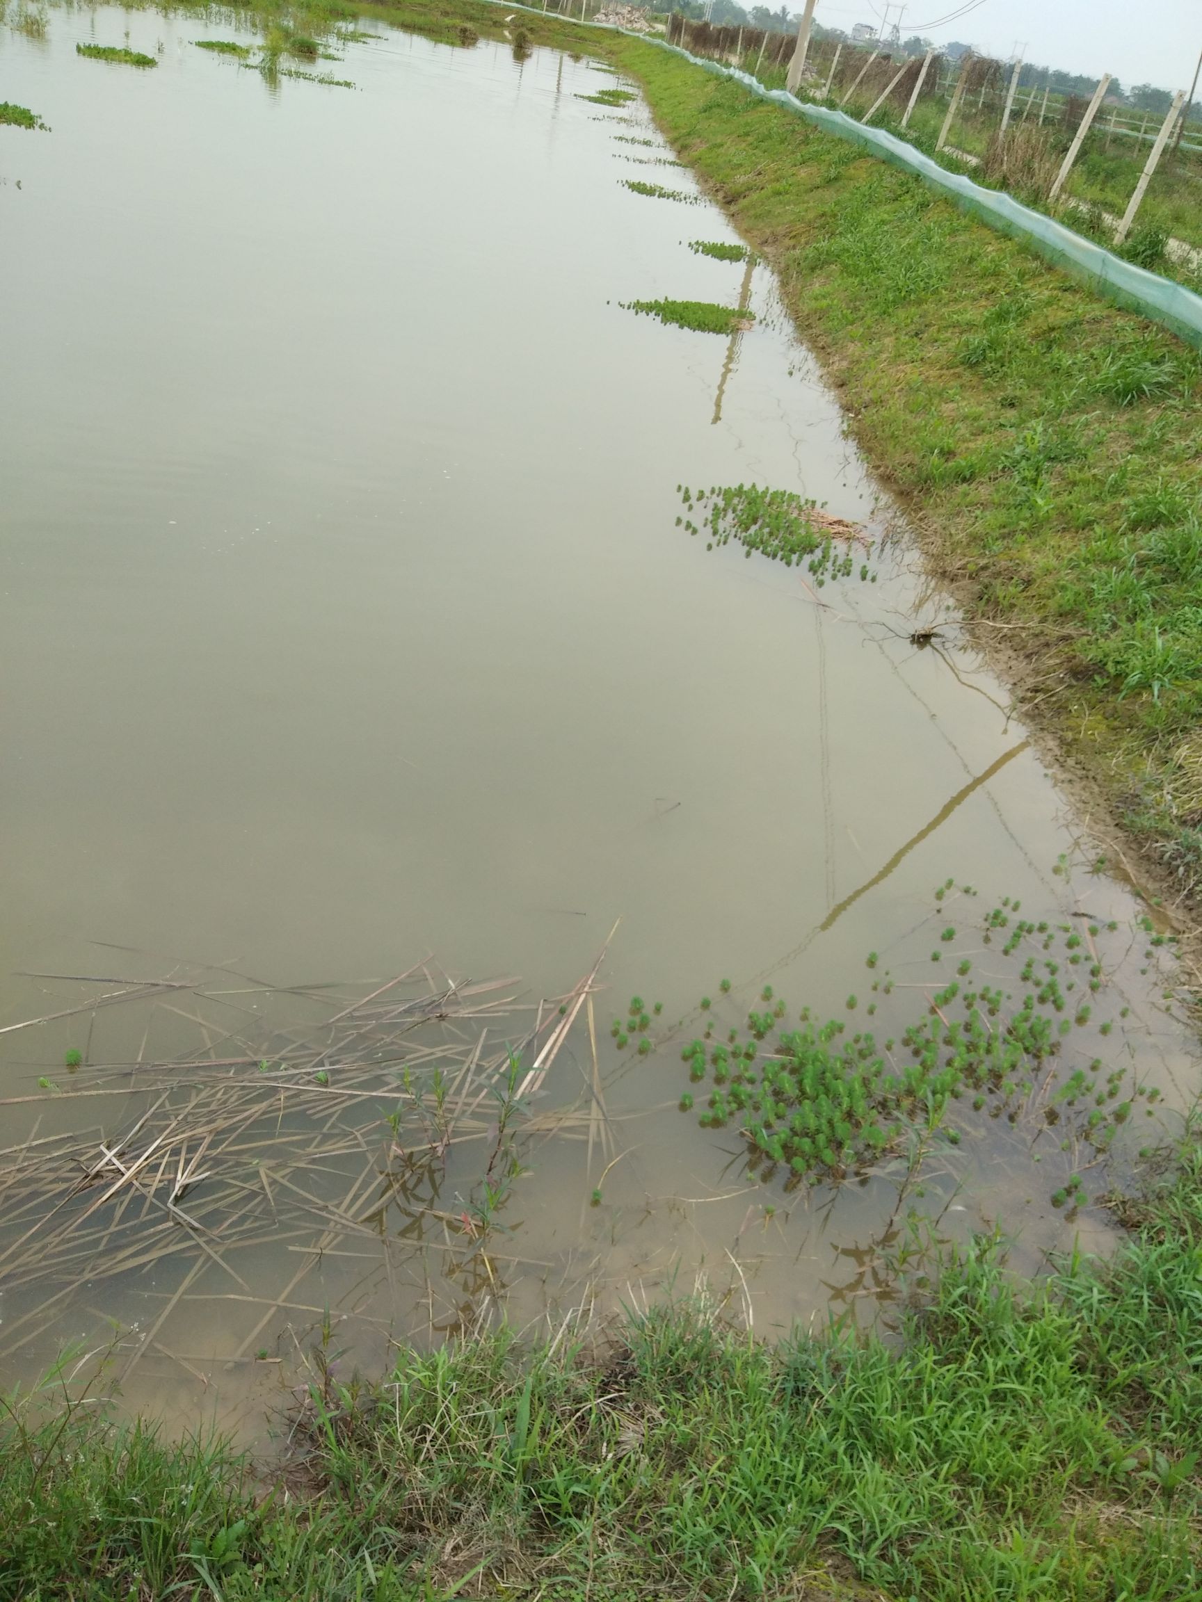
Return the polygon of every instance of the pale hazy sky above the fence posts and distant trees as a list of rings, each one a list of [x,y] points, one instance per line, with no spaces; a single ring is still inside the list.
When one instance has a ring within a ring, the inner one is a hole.
[[[965,5],[973,8],[963,16],[931,26]],[[897,10],[891,6],[889,22]],[[854,22],[875,24],[883,14],[885,0],[817,0],[814,19],[851,32]],[[962,38],[1002,59],[1018,42],[1024,58],[1042,66],[1111,72],[1123,88],[1188,90],[1202,50],[1202,0],[907,0],[901,29],[902,38]]]

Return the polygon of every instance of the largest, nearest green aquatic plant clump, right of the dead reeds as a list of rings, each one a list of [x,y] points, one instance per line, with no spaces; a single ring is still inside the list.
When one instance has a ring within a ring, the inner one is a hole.
[[[941,889],[947,894],[947,886]],[[801,1011],[801,1027],[784,1028],[785,1008],[771,990],[761,1000],[772,1004],[752,1009],[744,1028],[729,1030],[726,1040],[715,1041],[710,1024],[704,1038],[681,1051],[691,1083],[710,1080],[713,1086],[700,1123],[737,1123],[752,1161],[784,1168],[795,1184],[837,1182],[915,1131],[942,1131],[958,1144],[949,1113],[966,1096],[974,1112],[989,1107],[990,1117],[1018,1117],[1039,1093],[1045,1123],[1072,1117],[1075,1141],[1107,1150],[1138,1101],[1151,1105],[1156,1093],[1136,1086],[1125,1094],[1127,1067],[1119,1064],[1103,1077],[1101,1057],[1088,1070],[1059,1067],[1066,1038],[1091,1025],[1085,998],[1103,984],[1093,945],[1099,928],[1090,926],[1085,945],[1067,923],[1034,923],[1016,912],[1010,899],[992,908],[982,937],[987,945],[1003,937],[1003,958],[1026,953],[1018,992],[962,982],[971,971],[965,960],[957,971],[962,977],[930,985],[925,1014],[897,1040],[881,1045],[869,1032],[848,1036],[845,1020],[819,1024],[809,1008]],[[875,953],[867,966],[877,966]],[[883,995],[893,988],[888,972],[872,985]],[[857,998],[848,996],[846,1009],[856,1006]],[[700,1009],[708,1011],[708,998]],[[1111,1024],[1095,1027],[1104,1036]],[[1069,1177],[1056,1205],[1067,1198],[1085,1200],[1079,1179]]]

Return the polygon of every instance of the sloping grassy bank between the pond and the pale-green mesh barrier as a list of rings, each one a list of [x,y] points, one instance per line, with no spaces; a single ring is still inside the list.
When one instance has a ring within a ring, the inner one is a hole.
[[[364,6],[447,43],[478,0]],[[271,14],[271,13],[266,13]],[[316,29],[317,13],[306,10]],[[325,11],[332,16],[332,11]],[[889,168],[638,40],[521,13],[516,48],[635,75],[825,362],[931,570],[1119,849],[1202,910],[1202,360]]]

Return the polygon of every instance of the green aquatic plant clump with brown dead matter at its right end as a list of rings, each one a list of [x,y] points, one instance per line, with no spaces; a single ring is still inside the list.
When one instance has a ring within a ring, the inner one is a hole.
[[[856,524],[832,516],[793,490],[760,489],[758,484],[712,485],[696,492],[678,485],[678,490],[684,506],[702,522],[684,516],[676,525],[694,535],[704,532],[707,549],[737,540],[745,556],[758,551],[785,567],[806,562],[819,586],[827,577],[849,578],[856,569],[853,548],[856,541],[867,543]],[[864,562],[859,575],[877,582]]]

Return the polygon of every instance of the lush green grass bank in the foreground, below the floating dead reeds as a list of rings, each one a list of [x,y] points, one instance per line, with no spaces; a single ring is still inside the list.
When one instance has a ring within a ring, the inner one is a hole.
[[[18,1408],[0,1597],[1199,1599],[1199,1149],[1127,1218],[1039,1288],[992,1243],[946,1259],[893,1344],[684,1306],[603,1346],[402,1350],[316,1386],[266,1480]]]

